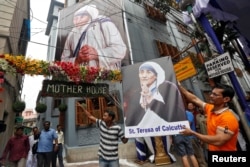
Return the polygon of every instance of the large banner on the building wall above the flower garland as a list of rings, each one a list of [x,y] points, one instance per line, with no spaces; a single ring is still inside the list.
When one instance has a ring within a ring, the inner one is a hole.
[[[128,61],[122,0],[85,0],[59,12],[56,60],[120,69]]]

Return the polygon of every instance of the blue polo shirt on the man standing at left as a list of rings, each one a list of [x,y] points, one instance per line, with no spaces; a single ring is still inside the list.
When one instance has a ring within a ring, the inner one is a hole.
[[[39,137],[37,152],[52,152],[53,141],[57,138],[58,136],[54,129],[49,129],[48,131],[43,129]]]

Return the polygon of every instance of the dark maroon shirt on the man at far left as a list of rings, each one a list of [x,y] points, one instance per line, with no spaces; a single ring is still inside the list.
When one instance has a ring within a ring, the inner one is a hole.
[[[14,136],[11,137],[4,149],[3,159],[6,159],[9,153],[9,161],[18,161],[21,158],[27,158],[30,149],[28,136]]]

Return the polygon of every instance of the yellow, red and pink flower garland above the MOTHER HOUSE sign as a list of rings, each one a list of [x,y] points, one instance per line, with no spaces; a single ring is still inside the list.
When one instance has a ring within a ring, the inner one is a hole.
[[[0,71],[16,75],[29,74],[52,76],[52,80],[93,83],[97,81],[121,81],[120,70],[74,65],[71,62],[47,62],[24,56],[0,55]]]

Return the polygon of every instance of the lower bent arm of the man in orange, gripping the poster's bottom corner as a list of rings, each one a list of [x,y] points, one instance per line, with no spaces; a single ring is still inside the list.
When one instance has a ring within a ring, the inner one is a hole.
[[[180,134],[183,135],[194,135],[197,138],[199,138],[201,141],[215,145],[215,146],[221,146],[225,144],[228,140],[230,140],[233,136],[233,132],[229,131],[225,133],[225,129],[222,127],[218,127],[216,130],[216,134],[214,136],[211,135],[203,135],[198,132],[192,131],[191,129],[186,128],[184,131],[180,132]]]

